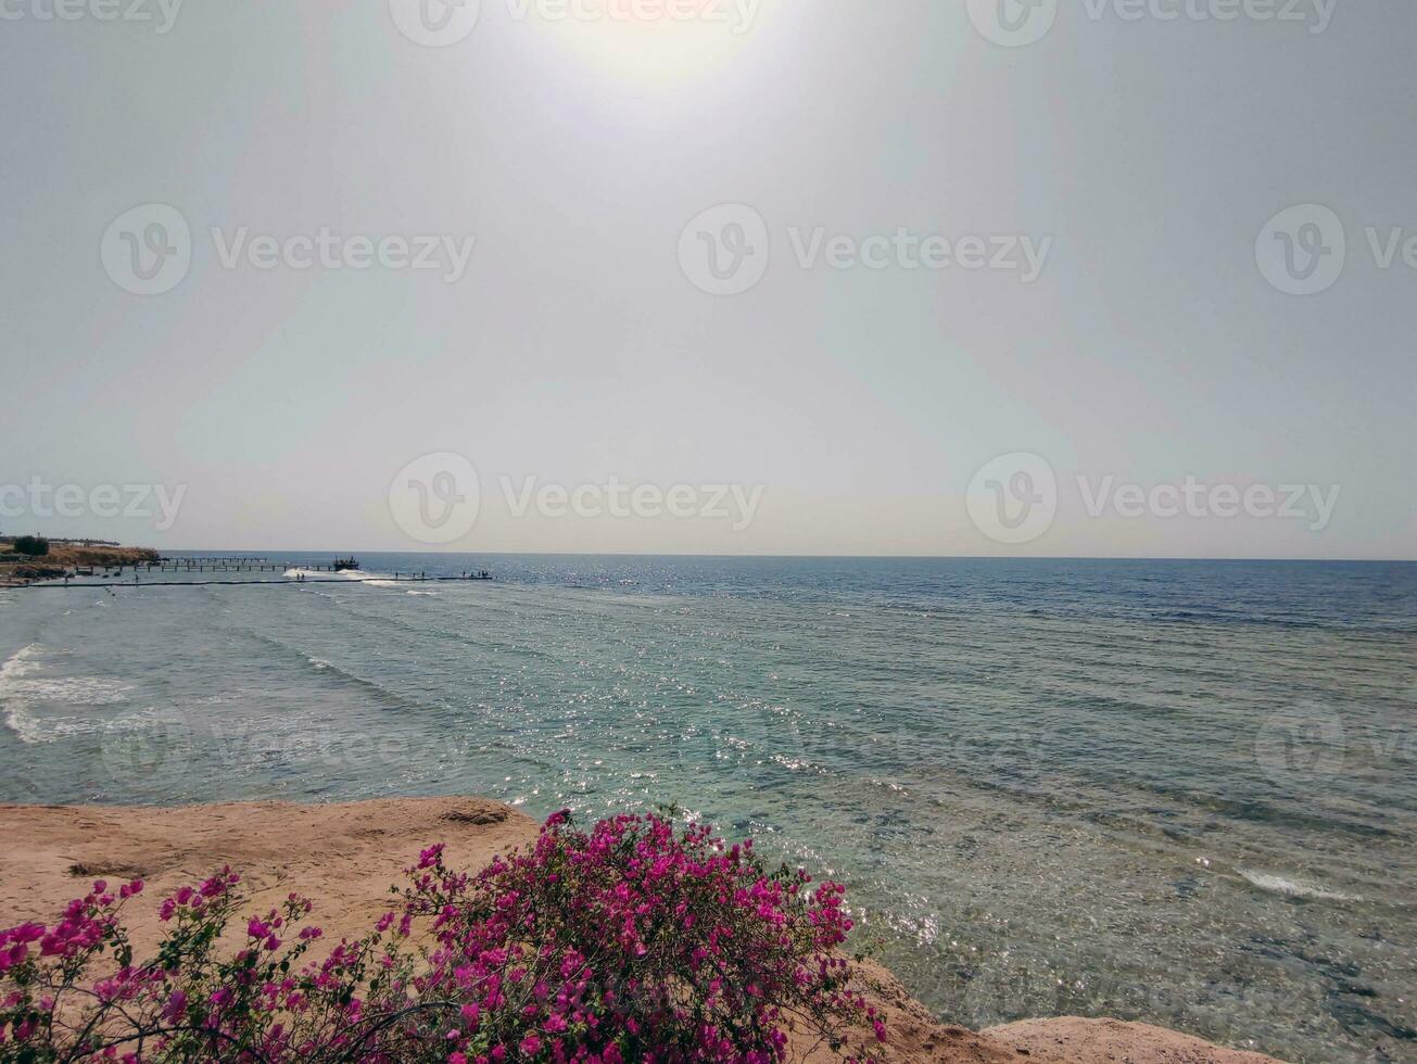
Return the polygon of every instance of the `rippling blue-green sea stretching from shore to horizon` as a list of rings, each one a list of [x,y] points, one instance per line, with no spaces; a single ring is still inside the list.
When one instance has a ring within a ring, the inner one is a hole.
[[[363,562],[497,579],[0,592],[0,800],[677,800],[948,1019],[1417,1060],[1417,565]]]

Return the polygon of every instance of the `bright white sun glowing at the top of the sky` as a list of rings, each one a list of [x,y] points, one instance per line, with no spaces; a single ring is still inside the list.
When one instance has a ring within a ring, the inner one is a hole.
[[[598,69],[646,85],[710,75],[748,47],[778,0],[531,0],[527,21]]]

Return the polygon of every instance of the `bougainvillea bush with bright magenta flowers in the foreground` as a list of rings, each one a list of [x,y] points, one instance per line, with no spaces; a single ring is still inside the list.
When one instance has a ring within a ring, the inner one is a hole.
[[[669,1064],[785,1060],[789,1026],[884,1041],[836,952],[843,888],[707,827],[584,832],[563,812],[480,873],[434,846],[407,874],[366,936],[332,946],[306,898],[244,915],[224,868],[162,901],[142,962],[123,927],[142,881],[98,881],[57,924],[0,931],[0,1060]]]

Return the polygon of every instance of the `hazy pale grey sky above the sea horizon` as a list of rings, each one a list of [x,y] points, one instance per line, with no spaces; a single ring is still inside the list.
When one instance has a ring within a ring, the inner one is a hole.
[[[0,0],[0,530],[1417,558],[1408,0]]]

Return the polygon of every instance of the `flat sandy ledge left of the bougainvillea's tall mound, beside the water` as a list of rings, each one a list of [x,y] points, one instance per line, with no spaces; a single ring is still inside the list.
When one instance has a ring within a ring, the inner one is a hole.
[[[390,905],[388,888],[418,850],[448,844],[456,867],[536,839],[536,825],[482,799],[390,799],[349,805],[0,806],[0,925],[52,921],[89,880],[142,878],[128,924],[135,945],[157,938],[157,902],[230,864],[252,911],[290,891],[320,898],[312,922],[326,938],[356,938]]]

